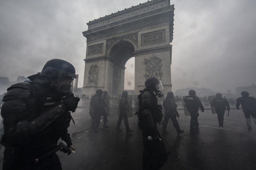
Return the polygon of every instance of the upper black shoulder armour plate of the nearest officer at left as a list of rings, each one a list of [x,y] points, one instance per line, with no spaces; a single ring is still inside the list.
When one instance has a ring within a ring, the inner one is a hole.
[[[11,86],[12,87],[12,86]],[[31,92],[29,89],[25,88],[8,88],[8,92],[5,93],[3,97],[3,101],[12,100],[12,99],[27,99],[31,95]]]

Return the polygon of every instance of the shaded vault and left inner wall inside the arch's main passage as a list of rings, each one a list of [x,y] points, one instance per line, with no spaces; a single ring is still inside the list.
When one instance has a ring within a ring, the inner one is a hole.
[[[134,57],[135,48],[129,41],[118,41],[111,48],[109,56],[115,61],[113,63],[112,94],[118,95],[125,86],[125,64]],[[133,75],[134,77],[134,75]],[[133,79],[134,85],[134,79]],[[133,86],[134,89],[134,86]]]

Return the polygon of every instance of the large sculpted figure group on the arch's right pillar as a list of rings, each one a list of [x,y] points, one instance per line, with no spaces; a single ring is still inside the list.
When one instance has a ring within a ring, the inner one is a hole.
[[[155,77],[158,80],[162,78],[162,59],[156,56],[150,57],[149,59],[144,59],[146,64],[145,74],[143,75],[146,79],[150,77]]]

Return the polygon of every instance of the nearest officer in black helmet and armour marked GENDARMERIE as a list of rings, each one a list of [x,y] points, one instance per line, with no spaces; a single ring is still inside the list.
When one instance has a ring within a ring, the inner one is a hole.
[[[74,112],[79,101],[70,90],[75,68],[64,60],[52,59],[28,78],[31,82],[12,85],[3,98],[3,170],[61,170],[55,153],[57,142],[61,138],[68,147],[72,145],[69,111]]]

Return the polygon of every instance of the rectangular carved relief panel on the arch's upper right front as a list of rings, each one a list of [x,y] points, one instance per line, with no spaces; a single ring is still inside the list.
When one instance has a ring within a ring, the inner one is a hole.
[[[141,45],[165,42],[165,31],[159,30],[151,33],[141,34]]]

